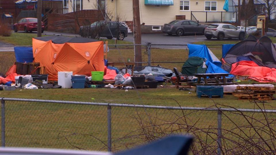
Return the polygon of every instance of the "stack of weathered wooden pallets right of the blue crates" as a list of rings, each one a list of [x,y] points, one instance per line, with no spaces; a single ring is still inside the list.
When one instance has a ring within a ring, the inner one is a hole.
[[[239,100],[272,100],[276,89],[271,87],[237,87],[233,95]]]

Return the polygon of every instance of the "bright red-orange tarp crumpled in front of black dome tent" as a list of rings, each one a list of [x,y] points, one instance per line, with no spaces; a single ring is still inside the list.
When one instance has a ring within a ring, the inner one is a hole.
[[[276,82],[276,69],[258,66],[254,61],[239,61],[232,64],[231,74],[244,75],[258,82]]]

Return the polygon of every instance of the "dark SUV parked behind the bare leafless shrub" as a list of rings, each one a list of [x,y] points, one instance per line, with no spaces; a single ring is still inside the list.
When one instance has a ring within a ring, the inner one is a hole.
[[[124,25],[123,23],[112,22],[112,21],[109,21],[109,22],[97,21],[90,25],[90,31],[95,30],[97,26],[103,27],[103,29],[99,34],[101,37],[106,37],[108,39],[112,39],[113,37],[115,37],[117,38],[117,40],[124,40],[124,38],[127,37],[127,26]],[[119,26],[119,29],[118,29],[118,26]],[[83,30],[83,28],[84,26],[81,26],[81,30]],[[87,32],[89,32],[89,30]]]

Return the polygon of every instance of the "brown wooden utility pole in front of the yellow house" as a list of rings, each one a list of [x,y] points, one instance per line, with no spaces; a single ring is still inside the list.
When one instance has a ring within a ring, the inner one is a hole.
[[[133,36],[134,44],[141,44],[141,23],[139,0],[132,0],[133,3]],[[134,45],[135,62],[142,62],[141,45]],[[142,66],[142,63],[136,63],[135,66]]]

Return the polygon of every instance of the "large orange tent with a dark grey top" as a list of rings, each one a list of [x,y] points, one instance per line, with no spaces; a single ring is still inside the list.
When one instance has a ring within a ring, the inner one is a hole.
[[[104,42],[90,38],[47,36],[32,39],[34,62],[45,66],[50,81],[57,81],[58,71],[90,75],[104,71]]]

